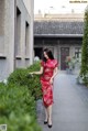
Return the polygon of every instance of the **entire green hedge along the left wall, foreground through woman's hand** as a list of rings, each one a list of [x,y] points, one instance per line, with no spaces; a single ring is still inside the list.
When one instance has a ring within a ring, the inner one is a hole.
[[[8,84],[0,83],[0,124],[9,131],[41,131],[36,121],[36,100],[42,97],[40,76],[28,75],[40,69],[40,63],[15,69]]]

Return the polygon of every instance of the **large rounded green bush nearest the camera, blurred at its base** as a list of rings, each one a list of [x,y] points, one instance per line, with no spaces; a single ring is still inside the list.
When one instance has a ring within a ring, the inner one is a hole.
[[[35,101],[28,87],[0,84],[0,124],[9,131],[40,131]]]

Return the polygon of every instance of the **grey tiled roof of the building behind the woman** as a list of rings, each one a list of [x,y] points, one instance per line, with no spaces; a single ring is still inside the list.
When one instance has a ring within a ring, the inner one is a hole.
[[[34,21],[34,35],[65,35],[84,33],[84,22]]]

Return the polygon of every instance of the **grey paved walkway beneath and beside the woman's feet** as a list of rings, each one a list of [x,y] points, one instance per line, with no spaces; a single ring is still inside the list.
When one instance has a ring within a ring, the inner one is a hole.
[[[61,73],[54,81],[53,128],[43,124],[41,100],[37,116],[43,131],[88,131],[88,88],[77,85],[75,75]]]

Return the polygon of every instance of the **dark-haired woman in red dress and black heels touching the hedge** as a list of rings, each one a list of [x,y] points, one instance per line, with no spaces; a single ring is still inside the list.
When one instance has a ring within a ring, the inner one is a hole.
[[[48,128],[52,128],[52,105],[53,105],[53,83],[54,77],[57,74],[58,63],[54,59],[52,52],[48,48],[43,51],[43,61],[41,62],[40,72],[33,72],[31,74],[41,75],[43,103],[45,107],[45,121],[48,123]]]

